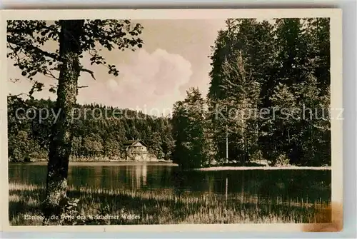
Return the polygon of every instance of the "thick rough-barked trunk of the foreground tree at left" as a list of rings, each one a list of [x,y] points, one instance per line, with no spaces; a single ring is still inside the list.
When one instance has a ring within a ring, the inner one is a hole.
[[[49,147],[46,200],[44,202],[45,224],[52,216],[61,218],[66,202],[67,176],[73,132],[71,113],[76,104],[77,81],[81,72],[79,55],[81,54],[80,39],[83,25],[84,20],[61,21],[59,37],[61,65],[56,101],[59,118],[52,126]],[[58,223],[59,220],[55,220],[55,222]]]

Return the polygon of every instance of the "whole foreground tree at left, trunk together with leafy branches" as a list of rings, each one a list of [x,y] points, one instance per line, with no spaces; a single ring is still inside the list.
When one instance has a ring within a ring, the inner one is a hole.
[[[66,200],[67,175],[71,142],[73,138],[71,111],[76,104],[78,78],[82,72],[94,72],[84,68],[81,59],[89,54],[91,64],[108,68],[108,73],[119,75],[116,66],[107,63],[101,56],[99,46],[111,50],[136,49],[142,46],[139,38],[142,26],[132,25],[129,20],[60,20],[49,21],[8,21],[8,57],[22,76],[33,81],[29,92],[41,91],[44,84],[36,81],[36,74],[54,78],[50,91],[57,93],[56,110],[59,118],[54,122],[49,142],[49,163],[46,182],[46,202],[44,214],[60,215]],[[47,51],[51,41],[59,48]]]

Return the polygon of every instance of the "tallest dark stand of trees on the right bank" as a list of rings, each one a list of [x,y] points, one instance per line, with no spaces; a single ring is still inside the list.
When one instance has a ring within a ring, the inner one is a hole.
[[[208,91],[215,158],[331,164],[329,20],[228,19],[212,47]],[[216,107],[226,108],[216,118]],[[231,118],[229,108],[258,112]],[[263,111],[262,111],[263,110]],[[264,113],[266,112],[266,113]]]

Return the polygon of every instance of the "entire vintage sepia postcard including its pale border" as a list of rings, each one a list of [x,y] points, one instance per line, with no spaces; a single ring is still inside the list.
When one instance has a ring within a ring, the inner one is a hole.
[[[341,230],[341,29],[339,9],[2,11],[3,230]]]

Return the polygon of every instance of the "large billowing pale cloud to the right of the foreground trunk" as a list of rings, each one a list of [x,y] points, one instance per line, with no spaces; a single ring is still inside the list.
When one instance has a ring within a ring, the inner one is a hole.
[[[89,88],[79,93],[79,101],[162,112],[184,97],[180,87],[192,75],[189,61],[164,49],[152,53],[141,49],[134,53],[130,63],[116,66],[120,71],[118,78],[91,81]]]

